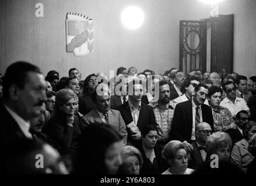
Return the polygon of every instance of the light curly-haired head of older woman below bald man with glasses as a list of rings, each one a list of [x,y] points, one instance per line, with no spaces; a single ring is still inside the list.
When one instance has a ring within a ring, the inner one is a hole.
[[[218,155],[219,161],[229,161],[232,140],[229,134],[216,132],[208,136],[206,143],[206,162],[211,162],[211,155]]]

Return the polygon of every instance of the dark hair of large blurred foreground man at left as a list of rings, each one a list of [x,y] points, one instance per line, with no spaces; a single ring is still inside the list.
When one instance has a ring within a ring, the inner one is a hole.
[[[23,88],[26,83],[27,73],[35,72],[41,74],[40,69],[28,62],[15,62],[8,66],[3,76],[3,99],[9,99],[10,85],[15,84],[19,88]]]

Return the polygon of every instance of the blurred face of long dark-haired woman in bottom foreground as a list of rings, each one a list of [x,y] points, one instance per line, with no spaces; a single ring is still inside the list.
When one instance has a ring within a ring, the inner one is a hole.
[[[121,158],[122,142],[115,142],[107,148],[105,154],[105,164],[108,174],[115,174],[119,166],[122,164]]]

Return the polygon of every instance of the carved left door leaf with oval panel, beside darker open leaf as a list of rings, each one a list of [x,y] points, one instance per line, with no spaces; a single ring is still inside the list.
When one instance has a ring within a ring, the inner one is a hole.
[[[180,70],[206,71],[206,22],[180,21]]]

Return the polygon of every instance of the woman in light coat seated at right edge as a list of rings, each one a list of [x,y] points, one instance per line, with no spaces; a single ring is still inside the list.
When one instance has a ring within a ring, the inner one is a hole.
[[[244,173],[254,156],[248,151],[250,138],[256,133],[256,121],[247,121],[243,126],[244,138],[234,144],[231,152],[231,162],[235,163]]]

